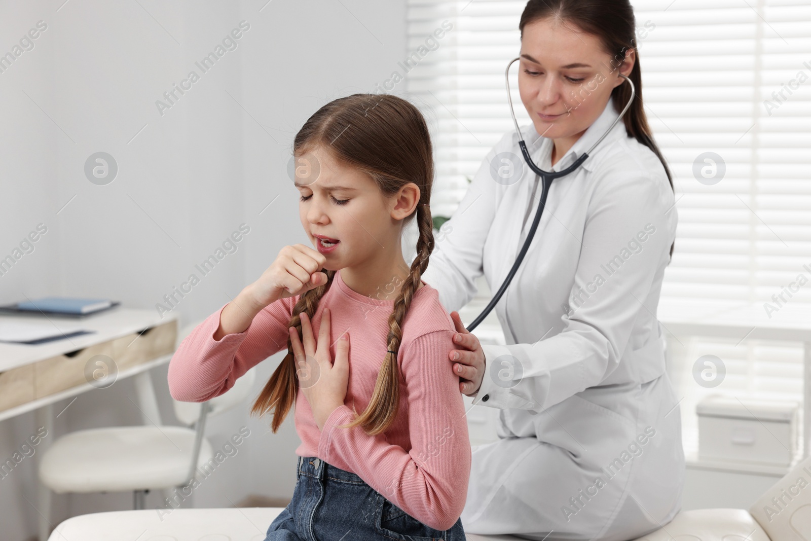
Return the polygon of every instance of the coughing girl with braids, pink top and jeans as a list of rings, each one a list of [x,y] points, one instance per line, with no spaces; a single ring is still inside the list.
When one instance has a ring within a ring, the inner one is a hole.
[[[169,363],[170,392],[217,397],[286,341],[251,410],[272,410],[277,432],[295,400],[302,440],[293,499],[266,541],[465,539],[470,440],[447,360],[456,328],[420,279],[434,247],[425,120],[401,98],[354,94],[305,122],[294,157],[299,214],[317,251],[282,248],[197,326]],[[414,217],[409,266],[401,234]]]

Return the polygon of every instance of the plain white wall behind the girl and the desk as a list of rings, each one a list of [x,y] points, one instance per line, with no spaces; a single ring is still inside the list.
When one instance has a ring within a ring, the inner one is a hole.
[[[397,69],[406,53],[405,0],[63,1],[0,5],[0,54],[37,21],[47,24],[33,49],[0,73],[0,258],[38,223],[48,228],[0,276],[0,303],[65,294],[155,309],[246,223],[251,231],[238,250],[177,305],[182,322],[200,320],[281,247],[308,242],[286,173],[293,136],[327,101],[367,92]],[[195,62],[242,20],[250,28],[237,48],[202,73]],[[161,115],[155,102],[191,70],[200,80]],[[84,174],[100,151],[118,163],[104,186]],[[280,360],[260,366],[254,396]],[[166,368],[152,379],[165,423],[175,423]],[[85,393],[48,437],[137,424],[128,398],[135,400],[127,380]],[[57,403],[55,413],[69,403]],[[247,406],[208,424],[215,448],[242,425],[251,436],[195,491],[195,506],[292,493],[299,444],[292,415],[274,435],[269,418],[249,418]],[[35,431],[34,414],[0,423],[0,459]],[[34,466],[28,460],[0,479],[2,539],[36,532]],[[161,505],[160,495],[147,504]],[[58,495],[51,520],[130,508],[130,494]]]

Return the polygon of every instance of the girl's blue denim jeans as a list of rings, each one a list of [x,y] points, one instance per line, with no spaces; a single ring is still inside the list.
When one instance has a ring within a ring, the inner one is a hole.
[[[386,500],[349,471],[317,457],[298,457],[293,499],[264,541],[465,541],[461,518],[434,530]]]

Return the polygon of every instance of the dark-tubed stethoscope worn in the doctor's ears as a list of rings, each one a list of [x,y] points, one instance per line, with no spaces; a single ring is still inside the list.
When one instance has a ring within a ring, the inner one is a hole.
[[[487,304],[487,307],[482,311],[481,314],[478,315],[478,317],[473,321],[473,323],[468,325],[467,327],[468,332],[476,328],[476,326],[480,324],[484,320],[484,318],[487,317],[487,314],[489,314],[492,311],[492,309],[496,307],[496,304],[499,302],[501,295],[503,295],[504,291],[507,290],[509,282],[513,280],[513,276],[515,276],[518,267],[521,265],[521,261],[524,260],[524,255],[526,254],[527,249],[529,249],[530,247],[530,243],[532,242],[532,238],[534,237],[535,230],[538,229],[538,224],[541,221],[541,214],[543,213],[543,206],[547,203],[547,193],[549,192],[549,187],[551,186],[552,180],[566,176],[573,170],[576,170],[577,167],[579,167],[581,163],[583,163],[583,161],[586,161],[586,158],[589,157],[589,154],[591,153],[592,150],[594,150],[594,147],[596,147],[600,143],[600,141],[602,141],[605,138],[605,136],[608,135],[608,132],[611,131],[614,125],[620,121],[620,118],[623,118],[625,111],[627,111],[628,108],[631,106],[633,97],[636,96],[636,89],[633,87],[631,79],[620,73],[623,79],[628,81],[628,84],[631,85],[631,99],[629,99],[628,103],[625,104],[625,107],[624,109],[622,109],[622,113],[620,113],[620,116],[615,118],[614,122],[611,122],[611,126],[608,127],[608,129],[603,135],[600,136],[599,140],[594,142],[594,144],[591,145],[591,148],[589,148],[588,151],[583,152],[581,156],[577,158],[577,160],[575,160],[572,165],[569,165],[569,167],[567,167],[562,171],[544,171],[538,165],[535,165],[534,161],[532,161],[532,158],[530,158],[530,152],[526,149],[524,136],[521,135],[521,128],[518,127],[518,121],[515,118],[515,110],[513,109],[513,97],[510,96],[509,92],[509,68],[510,66],[513,65],[513,63],[516,60],[520,59],[521,57],[513,58],[513,60],[507,64],[507,69],[504,71],[504,79],[507,84],[507,101],[509,102],[509,112],[510,114],[513,115],[513,123],[515,124],[515,131],[518,134],[519,139],[518,146],[521,147],[521,154],[524,155],[524,161],[526,161],[526,165],[529,165],[530,169],[533,170],[535,174],[538,174],[540,178],[543,178],[543,191],[541,191],[541,202],[538,204],[538,212],[535,213],[534,220],[532,221],[532,225],[530,226],[530,232],[526,235],[526,241],[524,241],[524,246],[521,247],[521,251],[518,252],[517,259],[515,260],[515,263],[513,263],[513,268],[510,268],[507,277],[504,279],[504,283],[501,284],[499,290],[496,291],[496,294],[493,296],[490,303]]]

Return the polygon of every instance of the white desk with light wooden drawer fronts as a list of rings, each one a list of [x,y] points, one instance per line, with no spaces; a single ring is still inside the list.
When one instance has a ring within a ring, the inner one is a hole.
[[[144,423],[161,425],[148,370],[172,358],[177,315],[161,319],[156,311],[116,307],[80,319],[0,318],[19,323],[45,321],[58,329],[78,325],[96,331],[36,346],[0,342],[0,421],[37,410],[42,417],[40,426],[50,428],[50,411],[44,406],[135,376]]]

